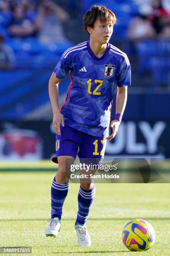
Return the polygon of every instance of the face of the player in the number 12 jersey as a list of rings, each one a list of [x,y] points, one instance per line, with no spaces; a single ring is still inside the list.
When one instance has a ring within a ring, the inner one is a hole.
[[[90,30],[90,38],[99,42],[100,44],[107,44],[113,33],[113,23],[108,21],[101,23],[100,20],[96,20],[94,27]]]

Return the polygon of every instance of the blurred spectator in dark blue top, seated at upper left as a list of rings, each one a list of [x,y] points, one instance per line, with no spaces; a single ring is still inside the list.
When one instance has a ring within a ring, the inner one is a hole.
[[[29,18],[23,5],[16,5],[13,11],[13,20],[8,28],[11,36],[35,36],[35,23]]]

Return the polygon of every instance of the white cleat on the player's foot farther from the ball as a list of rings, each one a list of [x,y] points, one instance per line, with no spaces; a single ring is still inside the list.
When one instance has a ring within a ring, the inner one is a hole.
[[[46,228],[45,235],[55,237],[60,231],[61,223],[57,217],[53,219],[47,219],[47,222],[49,221],[50,221],[50,225]]]

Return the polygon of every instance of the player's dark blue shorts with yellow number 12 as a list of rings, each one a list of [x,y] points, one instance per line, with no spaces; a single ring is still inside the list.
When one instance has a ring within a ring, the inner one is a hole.
[[[60,125],[60,132],[61,135],[56,134],[56,155],[52,158],[54,163],[58,163],[58,156],[76,158],[77,152],[80,159],[100,160],[104,157],[107,142],[104,137],[92,136],[67,125]]]

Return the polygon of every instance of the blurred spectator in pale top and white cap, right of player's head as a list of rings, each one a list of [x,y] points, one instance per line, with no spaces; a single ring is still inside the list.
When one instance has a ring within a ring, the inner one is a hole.
[[[141,5],[139,16],[131,20],[128,28],[128,38],[130,40],[151,39],[156,36],[156,31],[150,21],[151,11],[148,5]]]

